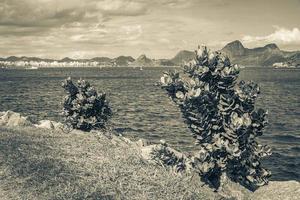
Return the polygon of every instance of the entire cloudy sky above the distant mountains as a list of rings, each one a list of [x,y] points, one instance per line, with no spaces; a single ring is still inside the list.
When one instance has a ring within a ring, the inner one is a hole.
[[[233,40],[300,50],[300,0],[0,0],[0,57],[171,58]]]

